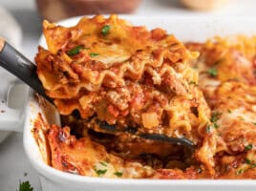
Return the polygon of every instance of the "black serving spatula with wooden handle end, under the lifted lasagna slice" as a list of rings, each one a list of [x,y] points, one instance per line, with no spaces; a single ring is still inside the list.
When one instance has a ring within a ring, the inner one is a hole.
[[[36,74],[36,66],[2,38],[0,38],[0,66],[28,84],[36,93],[53,103],[53,99],[45,94],[44,88]],[[99,127],[112,132],[115,132],[116,129],[113,125],[99,125]],[[187,138],[171,138],[159,134],[139,134],[134,136],[172,144],[194,146],[194,143]]]

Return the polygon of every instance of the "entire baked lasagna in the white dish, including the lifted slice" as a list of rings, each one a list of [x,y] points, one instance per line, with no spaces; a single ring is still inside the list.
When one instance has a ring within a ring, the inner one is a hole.
[[[37,74],[63,127],[39,115],[34,134],[43,131],[53,168],[105,178],[256,178],[253,38],[183,44],[117,15],[43,28],[48,48],[38,48]]]

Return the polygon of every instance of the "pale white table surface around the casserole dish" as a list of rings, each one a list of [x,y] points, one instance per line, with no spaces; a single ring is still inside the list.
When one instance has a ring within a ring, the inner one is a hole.
[[[0,6],[11,11],[20,24],[23,30],[21,52],[33,60],[37,51],[38,38],[41,34],[41,21],[35,9],[34,1],[0,0]],[[256,16],[255,7],[255,0],[230,0],[229,6],[223,10],[195,12],[182,9],[177,0],[143,0],[135,14]],[[32,169],[24,154],[22,134],[12,133],[0,145],[0,191],[15,191],[19,180],[30,180],[34,191],[41,191],[37,173]]]

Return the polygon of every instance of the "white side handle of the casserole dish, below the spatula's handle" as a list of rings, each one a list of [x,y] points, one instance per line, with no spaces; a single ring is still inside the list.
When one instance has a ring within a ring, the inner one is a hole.
[[[29,87],[19,80],[9,85],[6,98],[0,97],[0,130],[23,131],[28,94]]]

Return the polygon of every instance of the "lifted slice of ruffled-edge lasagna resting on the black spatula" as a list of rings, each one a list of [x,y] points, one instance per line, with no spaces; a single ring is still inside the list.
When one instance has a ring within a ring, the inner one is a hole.
[[[209,112],[191,83],[198,74],[187,61],[196,53],[173,35],[116,15],[82,18],[72,28],[45,21],[44,34],[49,50],[39,48],[37,73],[61,115],[78,110],[119,129],[199,141]]]

